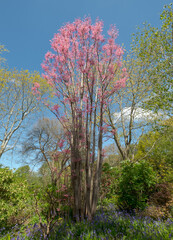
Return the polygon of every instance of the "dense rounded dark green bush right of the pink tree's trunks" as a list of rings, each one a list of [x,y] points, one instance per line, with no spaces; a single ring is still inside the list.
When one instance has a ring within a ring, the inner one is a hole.
[[[126,161],[119,179],[119,206],[123,209],[144,209],[156,182],[156,174],[146,161]]]

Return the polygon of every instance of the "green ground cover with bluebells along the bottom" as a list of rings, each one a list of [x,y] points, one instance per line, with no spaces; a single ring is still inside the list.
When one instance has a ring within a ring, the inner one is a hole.
[[[38,224],[26,228],[14,228],[13,231],[1,237],[2,240],[38,240],[44,239]],[[149,217],[136,217],[114,209],[99,211],[92,221],[80,223],[60,222],[55,226],[50,240],[70,239],[115,239],[115,240],[170,240],[173,239],[173,219],[152,220]]]

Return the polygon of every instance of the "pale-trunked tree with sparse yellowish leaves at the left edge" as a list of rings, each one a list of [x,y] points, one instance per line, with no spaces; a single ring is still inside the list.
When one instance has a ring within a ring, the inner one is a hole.
[[[0,69],[0,157],[14,148],[16,133],[38,106],[31,91],[35,81],[41,81],[38,73]]]

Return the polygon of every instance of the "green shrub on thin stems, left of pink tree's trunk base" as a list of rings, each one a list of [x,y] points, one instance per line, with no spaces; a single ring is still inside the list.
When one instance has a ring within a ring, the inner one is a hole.
[[[33,210],[37,216],[36,220],[44,237],[48,237],[53,226],[61,221],[61,217],[68,220],[69,216],[72,215],[69,188],[62,185],[58,189],[55,184],[33,186],[31,194],[33,196]]]

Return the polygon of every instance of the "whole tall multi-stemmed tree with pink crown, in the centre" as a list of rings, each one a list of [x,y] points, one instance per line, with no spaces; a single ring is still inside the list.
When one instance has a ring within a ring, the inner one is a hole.
[[[71,183],[74,217],[92,219],[95,214],[103,162],[104,115],[117,89],[125,86],[126,72],[119,81],[123,50],[115,43],[117,30],[108,38],[103,22],[90,18],[68,23],[54,35],[52,52],[45,55],[43,77],[52,87],[53,106],[66,132],[71,152]],[[33,87],[39,95],[39,85]]]

